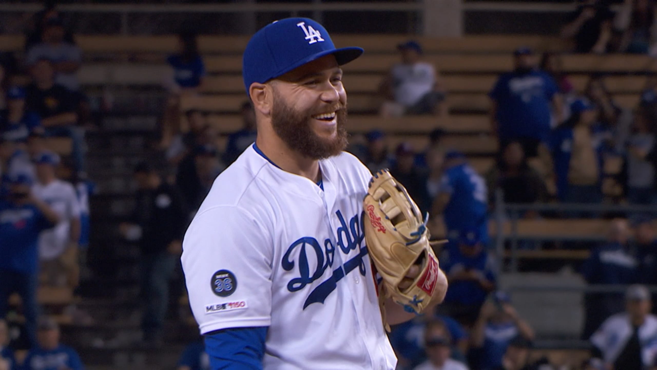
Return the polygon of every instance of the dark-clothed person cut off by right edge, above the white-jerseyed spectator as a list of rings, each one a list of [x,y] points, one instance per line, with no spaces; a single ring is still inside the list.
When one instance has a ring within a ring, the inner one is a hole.
[[[633,222],[635,242],[637,243],[637,260],[639,267],[639,282],[646,285],[657,285],[657,236],[652,217],[639,217]]]

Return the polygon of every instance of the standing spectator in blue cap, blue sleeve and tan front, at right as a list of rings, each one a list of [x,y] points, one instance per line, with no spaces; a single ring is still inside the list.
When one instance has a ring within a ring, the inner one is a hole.
[[[570,111],[570,118],[552,135],[558,197],[569,203],[599,203],[602,158],[600,143],[593,139],[598,111],[585,99],[575,101]]]

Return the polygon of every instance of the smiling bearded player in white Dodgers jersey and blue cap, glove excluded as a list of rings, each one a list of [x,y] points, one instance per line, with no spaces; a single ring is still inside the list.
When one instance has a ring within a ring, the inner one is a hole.
[[[181,257],[213,370],[396,367],[365,245],[373,177],[343,151],[340,65],[361,53],[336,49],[307,18],[265,26],[244,51],[256,142],[215,180]],[[432,267],[422,288],[437,297],[427,302],[440,302],[447,282]],[[416,266],[405,275],[400,287],[426,277]],[[414,317],[389,301],[388,324]]]

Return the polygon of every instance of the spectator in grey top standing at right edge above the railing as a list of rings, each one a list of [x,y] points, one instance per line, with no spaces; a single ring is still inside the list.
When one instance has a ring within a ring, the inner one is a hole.
[[[647,109],[639,109],[627,142],[627,201],[634,204],[657,203],[654,163],[646,159],[655,146],[654,122]]]

